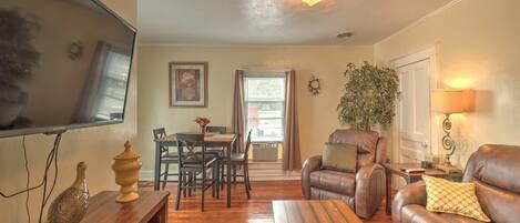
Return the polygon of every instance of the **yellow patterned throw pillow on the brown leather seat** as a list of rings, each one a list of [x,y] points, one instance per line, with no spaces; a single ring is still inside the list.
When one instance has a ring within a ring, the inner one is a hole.
[[[480,206],[475,183],[457,183],[427,175],[424,175],[422,180],[426,182],[426,210],[491,222]]]

